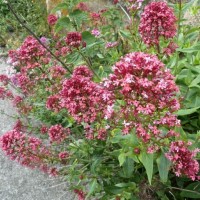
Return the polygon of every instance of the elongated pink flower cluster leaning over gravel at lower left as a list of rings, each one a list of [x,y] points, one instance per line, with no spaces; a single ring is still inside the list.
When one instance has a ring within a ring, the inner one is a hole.
[[[16,129],[0,137],[0,147],[12,160],[30,168],[44,165],[44,159],[50,155],[41,140],[27,137]]]

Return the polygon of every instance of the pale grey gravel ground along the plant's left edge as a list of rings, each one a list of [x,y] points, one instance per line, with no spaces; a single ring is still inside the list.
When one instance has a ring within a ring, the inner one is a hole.
[[[6,72],[7,64],[0,60],[0,74]],[[13,115],[11,103],[0,100],[0,110]],[[12,129],[14,121],[0,115],[0,135]],[[30,170],[9,160],[0,150],[0,200],[73,200],[67,184],[51,178],[40,171]]]

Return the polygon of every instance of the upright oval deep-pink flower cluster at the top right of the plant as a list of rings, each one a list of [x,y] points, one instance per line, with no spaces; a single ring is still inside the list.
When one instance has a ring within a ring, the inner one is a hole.
[[[141,15],[139,32],[149,46],[159,44],[159,38],[173,38],[176,35],[176,17],[165,2],[148,4]]]

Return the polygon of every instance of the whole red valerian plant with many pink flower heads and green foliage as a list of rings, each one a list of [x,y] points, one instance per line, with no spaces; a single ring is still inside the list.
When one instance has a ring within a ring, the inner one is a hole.
[[[0,98],[19,115],[0,137],[2,150],[68,178],[80,200],[149,198],[141,191],[168,198],[169,182],[199,180],[198,137],[182,130],[180,91],[168,69],[177,48],[173,10],[152,2],[140,15],[145,1],[127,0],[94,12],[72,2],[68,16],[49,16],[53,35],[40,38],[44,46],[29,36],[9,52],[16,72],[0,75]]]

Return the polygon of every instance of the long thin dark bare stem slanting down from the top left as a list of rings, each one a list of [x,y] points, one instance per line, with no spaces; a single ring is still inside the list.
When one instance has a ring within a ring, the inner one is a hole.
[[[10,1],[7,1],[8,4],[8,8],[11,11],[11,13],[15,16],[15,18],[17,19],[17,21],[58,61],[60,62],[66,69],[67,71],[72,74],[72,71],[67,67],[67,65],[59,58],[57,57],[47,46],[45,46],[40,39],[37,37],[37,35],[28,27],[26,26],[26,24],[18,17],[18,15],[16,14],[16,12],[14,11]]]

